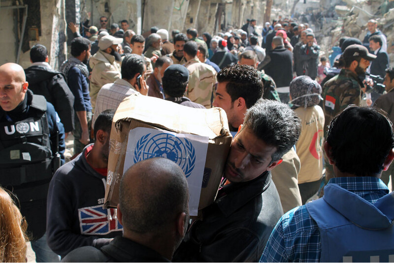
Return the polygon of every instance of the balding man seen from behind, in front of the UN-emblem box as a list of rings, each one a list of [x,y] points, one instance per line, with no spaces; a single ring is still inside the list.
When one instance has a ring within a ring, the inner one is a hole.
[[[189,221],[182,169],[165,158],[141,161],[123,175],[118,220],[123,236],[97,249],[78,248],[63,262],[170,262]]]

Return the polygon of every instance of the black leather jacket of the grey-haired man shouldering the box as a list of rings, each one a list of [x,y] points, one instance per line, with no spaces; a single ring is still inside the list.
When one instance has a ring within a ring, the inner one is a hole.
[[[230,183],[203,209],[175,252],[174,262],[258,262],[283,214],[271,173]]]

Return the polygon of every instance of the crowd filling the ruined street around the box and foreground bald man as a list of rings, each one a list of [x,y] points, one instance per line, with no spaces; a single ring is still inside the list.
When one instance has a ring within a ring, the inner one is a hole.
[[[25,261],[27,241],[37,262],[393,260],[394,68],[375,20],[328,58],[290,18],[261,36],[255,19],[213,36],[108,21],[68,25],[59,71],[41,44],[30,67],[0,66],[0,261]],[[131,166],[103,208],[112,120],[133,94],[226,112],[230,153],[198,219],[164,158]]]

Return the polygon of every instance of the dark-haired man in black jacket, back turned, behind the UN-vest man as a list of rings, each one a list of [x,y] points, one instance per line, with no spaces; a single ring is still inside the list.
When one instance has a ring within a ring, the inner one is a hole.
[[[65,132],[74,128],[74,95],[62,73],[55,71],[48,64],[48,51],[45,46],[36,44],[30,50],[33,63],[25,69],[29,89],[36,95],[42,95],[58,113]]]

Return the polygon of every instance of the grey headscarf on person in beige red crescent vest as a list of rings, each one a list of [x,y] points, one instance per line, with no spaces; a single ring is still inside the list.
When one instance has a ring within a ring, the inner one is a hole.
[[[322,87],[309,76],[298,76],[290,83],[290,95],[292,100],[289,103],[297,107],[310,107],[319,104],[323,100]]]

